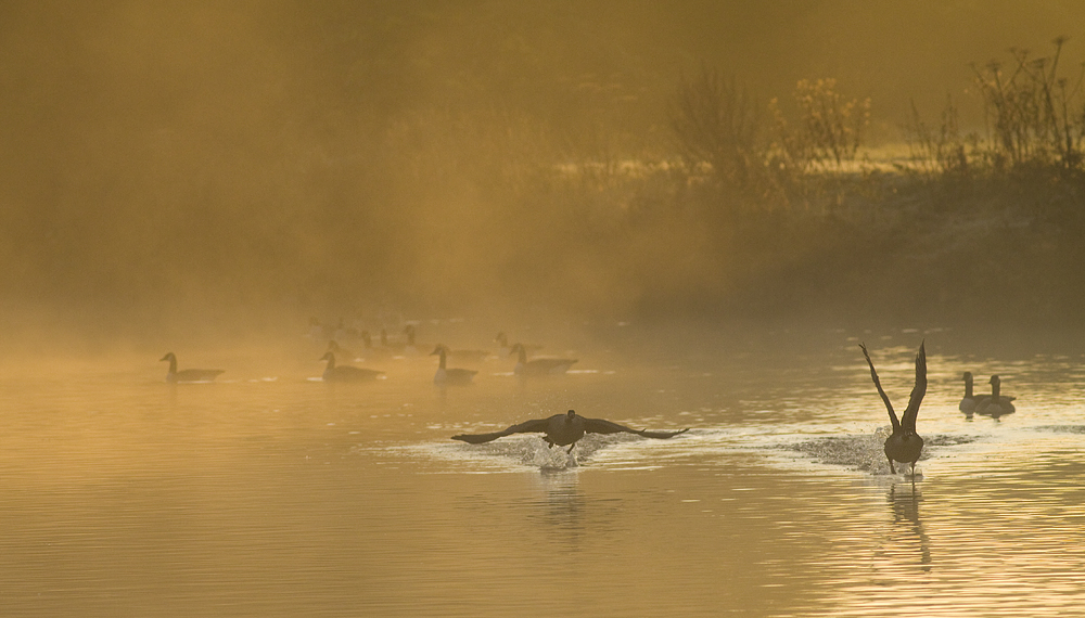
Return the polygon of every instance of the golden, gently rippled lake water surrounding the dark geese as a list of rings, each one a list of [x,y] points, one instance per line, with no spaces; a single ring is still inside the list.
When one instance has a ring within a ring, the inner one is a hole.
[[[854,335],[854,336],[853,336]],[[4,616],[1068,616],[1085,614],[1085,357],[971,358],[927,333],[916,482],[856,347],[898,408],[919,333],[766,334],[726,358],[578,346],[523,384],[490,360],[442,391],[433,357],[312,379],[319,347],[26,364],[0,387]],[[774,338],[775,337],[775,338]],[[617,342],[618,345],[612,345]],[[722,340],[720,347],[727,342]],[[427,350],[426,350],[427,351]],[[556,350],[563,352],[564,350]],[[966,420],[960,373],[1018,412]],[[575,408],[668,429],[575,460],[494,430]]]

